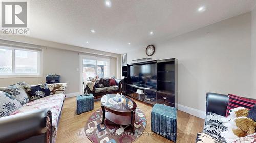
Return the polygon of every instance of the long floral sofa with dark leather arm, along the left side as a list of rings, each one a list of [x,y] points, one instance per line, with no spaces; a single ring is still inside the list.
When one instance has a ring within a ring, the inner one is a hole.
[[[31,98],[10,115],[0,117],[0,142],[55,142],[66,83],[48,87],[51,95]]]

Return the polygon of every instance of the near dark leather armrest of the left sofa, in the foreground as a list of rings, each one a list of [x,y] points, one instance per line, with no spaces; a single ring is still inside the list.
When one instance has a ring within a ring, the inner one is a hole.
[[[47,109],[0,118],[0,142],[52,142],[52,115]]]

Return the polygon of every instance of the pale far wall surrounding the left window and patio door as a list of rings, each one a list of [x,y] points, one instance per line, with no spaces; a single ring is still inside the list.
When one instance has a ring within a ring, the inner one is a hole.
[[[31,78],[0,78],[0,87],[24,81],[31,85],[45,83],[45,76],[48,74],[60,74],[61,82],[68,83],[66,94],[79,92],[79,54],[108,57],[110,60],[110,75],[120,78],[120,55],[102,52],[82,47],[60,44],[21,36],[1,36],[0,39],[25,42],[44,46],[43,50],[43,77]],[[13,43],[13,42],[10,42]]]

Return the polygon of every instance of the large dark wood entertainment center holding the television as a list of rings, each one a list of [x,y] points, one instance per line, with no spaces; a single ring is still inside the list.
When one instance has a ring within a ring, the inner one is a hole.
[[[178,103],[178,60],[151,60],[122,66],[123,93],[148,104]]]

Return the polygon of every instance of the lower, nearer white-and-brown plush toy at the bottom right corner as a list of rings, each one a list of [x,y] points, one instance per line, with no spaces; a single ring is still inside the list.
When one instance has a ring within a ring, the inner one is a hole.
[[[228,130],[223,131],[220,135],[225,138],[226,142],[232,142],[239,137],[253,134],[256,128],[256,122],[245,116],[231,119],[223,125],[226,126]]]

